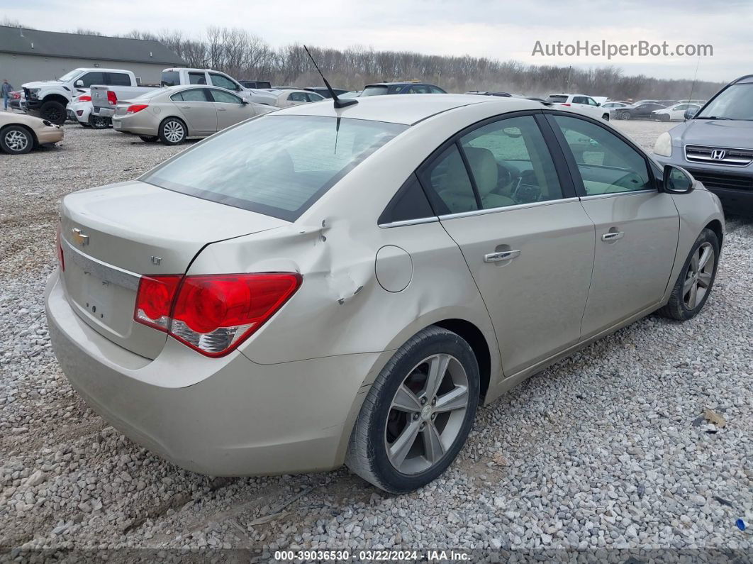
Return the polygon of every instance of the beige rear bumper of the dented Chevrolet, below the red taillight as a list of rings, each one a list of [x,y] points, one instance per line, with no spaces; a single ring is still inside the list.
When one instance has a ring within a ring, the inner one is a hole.
[[[321,471],[343,463],[366,393],[361,384],[379,353],[255,364],[239,352],[206,358],[168,339],[150,360],[80,319],[57,271],[44,301],[53,350],[73,388],[163,458],[212,475]]]

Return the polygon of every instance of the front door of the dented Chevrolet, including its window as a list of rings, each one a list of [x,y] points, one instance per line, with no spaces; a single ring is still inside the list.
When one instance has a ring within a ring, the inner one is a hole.
[[[679,216],[645,155],[598,123],[550,113],[581,204],[596,225],[584,339],[658,305],[675,261]]]

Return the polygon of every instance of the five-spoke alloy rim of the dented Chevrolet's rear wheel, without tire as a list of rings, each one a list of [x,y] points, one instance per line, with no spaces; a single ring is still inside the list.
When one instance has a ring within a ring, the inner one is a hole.
[[[402,474],[439,462],[460,434],[468,410],[468,375],[452,355],[425,358],[410,370],[390,404],[384,441]]]

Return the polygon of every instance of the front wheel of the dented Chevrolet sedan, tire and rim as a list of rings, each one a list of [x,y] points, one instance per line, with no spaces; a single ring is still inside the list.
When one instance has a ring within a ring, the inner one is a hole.
[[[659,310],[661,316],[683,322],[697,316],[711,294],[719,252],[716,233],[704,229],[677,277],[669,303]]]

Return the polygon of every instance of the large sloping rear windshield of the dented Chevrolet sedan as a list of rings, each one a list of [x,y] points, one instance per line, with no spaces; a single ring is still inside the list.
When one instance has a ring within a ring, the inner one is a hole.
[[[183,151],[141,180],[295,221],[407,127],[337,117],[263,116]]]

